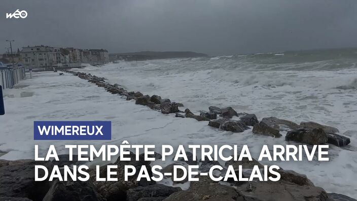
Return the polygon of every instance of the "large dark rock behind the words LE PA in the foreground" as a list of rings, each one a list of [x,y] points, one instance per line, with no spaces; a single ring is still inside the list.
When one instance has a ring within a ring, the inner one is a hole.
[[[118,157],[117,161],[114,163],[118,165],[118,169],[113,170],[116,172],[112,177],[118,178],[118,181],[95,181],[95,173],[91,174],[91,181],[93,181],[96,191],[101,194],[107,201],[114,200],[125,200],[126,191],[130,188],[135,188],[138,186],[148,186],[155,184],[154,181],[147,181],[146,179],[141,179],[136,181],[138,173],[142,165],[145,165],[150,177],[152,177],[150,161],[145,161],[143,156],[139,156],[139,160],[135,160],[135,154],[131,153],[129,156],[130,161],[121,161]],[[124,181],[124,167],[125,165],[133,165],[136,169],[136,174],[134,176],[128,177],[128,181]],[[107,175],[107,165],[100,167],[99,175],[101,178],[105,178]]]

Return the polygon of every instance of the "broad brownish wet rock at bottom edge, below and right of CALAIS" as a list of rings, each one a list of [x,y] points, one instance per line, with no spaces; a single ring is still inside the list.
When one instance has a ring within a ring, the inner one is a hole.
[[[243,200],[328,201],[328,195],[323,188],[300,186],[286,181],[252,181],[238,185],[236,188],[244,197]]]

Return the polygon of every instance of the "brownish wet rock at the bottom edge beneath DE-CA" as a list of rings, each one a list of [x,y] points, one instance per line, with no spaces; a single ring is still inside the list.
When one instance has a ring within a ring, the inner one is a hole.
[[[188,190],[171,194],[165,201],[176,200],[243,200],[235,188],[217,183],[194,182]]]

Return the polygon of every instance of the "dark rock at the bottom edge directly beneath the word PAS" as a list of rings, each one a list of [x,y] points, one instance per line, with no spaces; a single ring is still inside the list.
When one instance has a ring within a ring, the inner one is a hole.
[[[126,194],[127,201],[137,201],[140,198],[157,198],[163,200],[174,192],[181,191],[180,187],[165,186],[162,184],[155,184],[150,186],[139,186],[129,189]],[[142,200],[142,199],[141,199]],[[147,200],[147,199],[146,199]],[[153,199],[150,199],[153,200]]]

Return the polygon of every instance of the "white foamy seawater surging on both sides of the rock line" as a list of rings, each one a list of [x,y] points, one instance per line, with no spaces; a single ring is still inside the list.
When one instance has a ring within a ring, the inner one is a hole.
[[[351,139],[351,144],[346,148],[331,146],[329,162],[262,163],[306,174],[329,192],[357,197],[357,54],[347,53],[122,61],[78,71],[105,77],[127,90],[170,98],[194,112],[207,111],[209,106],[231,106],[237,112],[254,113],[259,119],[275,116],[296,123],[315,121],[335,126]],[[25,89],[35,95],[19,98],[16,93],[20,89],[6,92],[15,97],[5,98],[8,116],[0,117],[5,127],[0,151],[9,152],[0,158],[32,156],[34,142],[28,127],[33,120],[110,120],[114,130],[110,144],[120,144],[124,139],[132,144],[247,144],[254,157],[263,144],[287,144],[285,133],[279,139],[252,135],[252,130],[232,133],[209,127],[207,122],[163,115],[72,75],[39,73],[22,84],[29,84]]]

